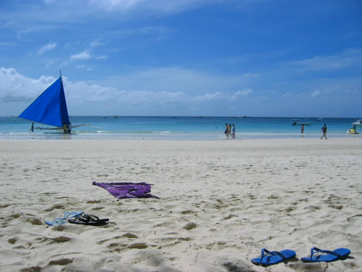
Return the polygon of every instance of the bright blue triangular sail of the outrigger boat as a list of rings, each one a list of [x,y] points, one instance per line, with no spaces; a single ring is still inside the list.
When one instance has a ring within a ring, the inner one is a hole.
[[[62,78],[57,79],[19,116],[49,126],[69,125],[67,102],[65,100]]]

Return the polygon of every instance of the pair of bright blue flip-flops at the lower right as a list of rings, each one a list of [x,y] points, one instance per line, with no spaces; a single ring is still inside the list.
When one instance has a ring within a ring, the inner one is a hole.
[[[315,254],[317,253],[317,254]],[[318,254],[325,253],[325,254]],[[343,260],[351,253],[351,250],[348,248],[337,248],[336,250],[322,250],[317,247],[311,249],[310,257],[300,258],[303,262],[306,263],[317,263],[317,262],[334,262],[338,260]],[[251,259],[251,262],[255,265],[261,266],[270,266],[276,265],[281,262],[285,262],[295,257],[295,251],[290,249],[284,249],[281,251],[269,251],[265,248],[262,249],[261,258]]]

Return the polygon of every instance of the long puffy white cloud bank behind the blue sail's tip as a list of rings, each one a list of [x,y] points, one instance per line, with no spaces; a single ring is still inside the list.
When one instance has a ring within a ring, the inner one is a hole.
[[[79,69],[92,69],[86,65],[77,65]],[[0,103],[29,102],[42,93],[55,78],[42,76],[38,80],[27,78],[16,72],[15,69],[0,69]],[[67,102],[76,100],[77,104],[104,102],[114,105],[134,105],[137,107],[149,107],[169,103],[186,103],[194,105],[195,102],[207,101],[231,101],[252,92],[250,89],[235,93],[208,92],[202,94],[186,93],[185,91],[150,91],[142,89],[121,89],[89,84],[86,82],[71,82],[63,77],[66,86]],[[25,91],[24,91],[25,90]]]

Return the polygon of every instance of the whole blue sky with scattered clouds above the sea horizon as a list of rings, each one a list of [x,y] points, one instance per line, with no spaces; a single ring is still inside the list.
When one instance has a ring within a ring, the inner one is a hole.
[[[362,118],[362,1],[1,0],[0,115]]]

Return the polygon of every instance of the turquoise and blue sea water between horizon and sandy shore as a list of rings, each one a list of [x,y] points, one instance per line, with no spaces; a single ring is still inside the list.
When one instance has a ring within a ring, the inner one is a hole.
[[[301,135],[301,126],[309,123]],[[70,116],[72,125],[90,124],[97,128],[74,128],[64,135],[58,130],[29,132],[30,121],[12,116],[0,116],[0,139],[157,139],[157,140],[225,140],[225,123],[235,124],[236,139],[320,137],[326,123],[327,137],[360,137],[346,131],[361,118],[298,118],[298,117],[182,117],[182,116]],[[48,127],[34,124],[35,127]],[[100,129],[101,128],[101,129]],[[359,129],[357,129],[359,131]],[[361,131],[362,132],[362,131]],[[230,137],[231,140],[231,137]]]

